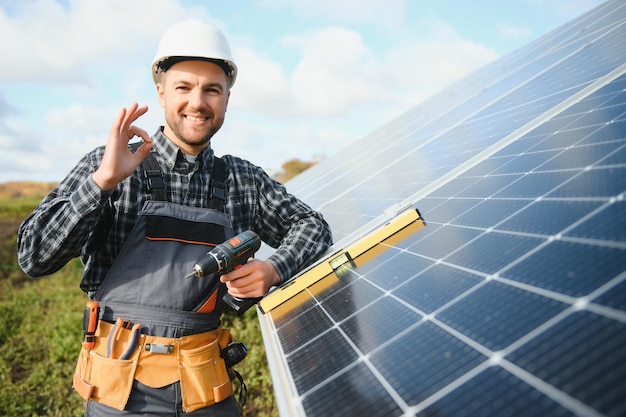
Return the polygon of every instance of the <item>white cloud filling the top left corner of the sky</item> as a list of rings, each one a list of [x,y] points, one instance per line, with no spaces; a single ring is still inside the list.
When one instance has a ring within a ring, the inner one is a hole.
[[[86,83],[98,69],[117,71],[129,61],[152,58],[163,29],[189,17],[175,0],[34,0],[0,9],[0,67],[3,82]],[[207,17],[206,10],[200,14]]]

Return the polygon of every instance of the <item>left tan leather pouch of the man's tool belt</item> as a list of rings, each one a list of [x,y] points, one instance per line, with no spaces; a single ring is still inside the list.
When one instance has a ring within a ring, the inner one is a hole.
[[[77,365],[77,375],[93,387],[89,399],[118,410],[126,407],[136,370],[134,359],[111,359],[94,351],[81,352]]]

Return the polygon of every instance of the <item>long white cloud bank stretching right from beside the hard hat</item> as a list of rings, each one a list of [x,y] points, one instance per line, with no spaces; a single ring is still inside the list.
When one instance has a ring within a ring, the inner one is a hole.
[[[356,31],[327,27],[283,38],[300,60],[290,73],[252,47],[239,49],[231,106],[272,118],[341,118],[364,108],[406,109],[494,60],[497,54],[444,24],[376,53]]]

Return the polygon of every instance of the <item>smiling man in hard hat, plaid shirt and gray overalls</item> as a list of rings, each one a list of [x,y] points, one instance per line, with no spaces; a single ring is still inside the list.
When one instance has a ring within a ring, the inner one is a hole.
[[[147,107],[119,113],[105,147],[88,153],[20,227],[30,276],[81,256],[81,289],[98,302],[74,388],[86,416],[238,415],[221,357],[223,296],[266,294],[332,243],[322,216],[257,166],[210,140],[224,121],[237,67],[222,33],[198,20],[165,32],[152,75],[165,126],[135,126]],[[139,137],[141,146],[129,146]],[[252,230],[277,248],[223,276],[186,278],[213,246]],[[91,343],[90,343],[91,342]]]

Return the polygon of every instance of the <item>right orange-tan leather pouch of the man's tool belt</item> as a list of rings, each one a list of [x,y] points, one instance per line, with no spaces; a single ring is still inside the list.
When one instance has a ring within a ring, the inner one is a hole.
[[[218,340],[195,349],[181,349],[179,355],[180,388],[186,412],[223,401],[233,394]]]

